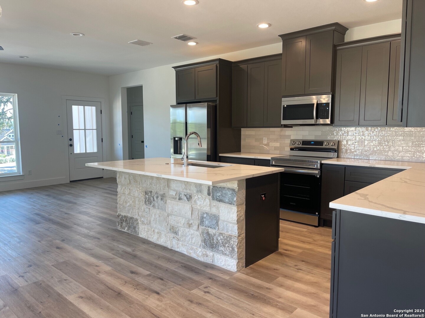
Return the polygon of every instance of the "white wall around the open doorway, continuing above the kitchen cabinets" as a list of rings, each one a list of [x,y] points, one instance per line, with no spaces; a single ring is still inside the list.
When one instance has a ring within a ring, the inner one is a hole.
[[[345,40],[351,41],[399,32],[401,32],[401,19],[349,29]],[[111,76],[109,89],[111,111],[113,112],[113,116],[111,116],[113,160],[128,159],[127,106],[124,96],[122,100],[122,87],[143,85],[144,140],[145,146],[147,146],[145,157],[169,157],[169,111],[170,105],[176,103],[175,72],[171,68],[172,66],[218,57],[229,61],[238,61],[277,53],[282,53],[281,43]]]

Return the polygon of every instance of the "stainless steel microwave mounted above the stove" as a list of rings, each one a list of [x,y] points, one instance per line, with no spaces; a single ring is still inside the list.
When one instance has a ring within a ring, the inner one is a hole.
[[[282,125],[331,123],[332,95],[282,98]]]

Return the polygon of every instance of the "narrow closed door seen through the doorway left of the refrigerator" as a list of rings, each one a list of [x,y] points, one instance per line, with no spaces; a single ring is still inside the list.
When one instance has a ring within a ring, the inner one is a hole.
[[[143,106],[130,107],[131,159],[144,159]]]

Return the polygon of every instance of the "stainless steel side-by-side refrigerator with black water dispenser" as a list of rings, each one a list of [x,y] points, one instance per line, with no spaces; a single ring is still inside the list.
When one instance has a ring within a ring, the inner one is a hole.
[[[182,104],[170,106],[171,121],[171,158],[180,159],[184,151],[184,138],[190,131],[196,131],[201,137],[192,135],[187,140],[189,160],[216,161],[216,110],[212,103]]]

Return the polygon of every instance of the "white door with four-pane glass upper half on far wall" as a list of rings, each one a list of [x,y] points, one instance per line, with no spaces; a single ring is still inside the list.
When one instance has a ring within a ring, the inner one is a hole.
[[[69,180],[103,176],[103,170],[86,167],[102,162],[102,121],[100,102],[67,100]]]

